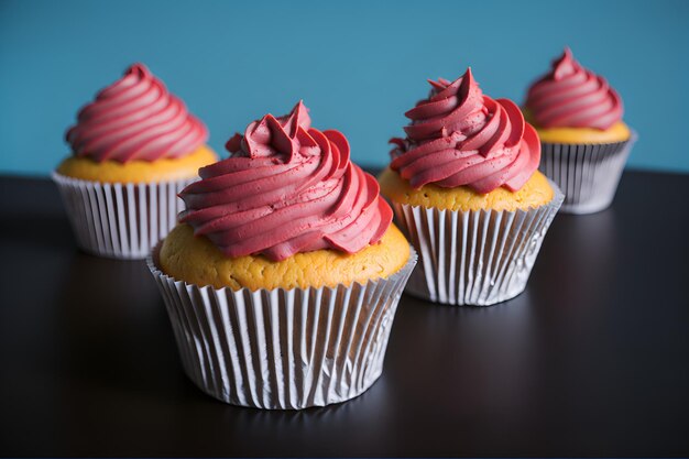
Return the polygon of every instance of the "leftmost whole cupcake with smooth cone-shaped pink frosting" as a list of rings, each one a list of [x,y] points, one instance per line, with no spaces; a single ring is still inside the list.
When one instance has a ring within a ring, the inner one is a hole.
[[[217,161],[208,130],[142,64],[96,96],[67,130],[72,155],[53,173],[78,245],[144,259],[174,227],[177,194]]]

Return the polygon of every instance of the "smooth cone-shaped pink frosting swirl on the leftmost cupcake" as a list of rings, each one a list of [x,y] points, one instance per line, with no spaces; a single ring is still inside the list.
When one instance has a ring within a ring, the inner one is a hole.
[[[181,157],[207,139],[206,125],[143,64],[100,90],[66,134],[76,156],[120,163]]]

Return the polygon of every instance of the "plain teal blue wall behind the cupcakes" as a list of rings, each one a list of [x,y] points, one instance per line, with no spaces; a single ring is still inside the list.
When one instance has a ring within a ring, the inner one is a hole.
[[[77,109],[136,61],[216,151],[303,98],[315,127],[381,166],[426,78],[471,65],[488,95],[521,103],[566,44],[622,95],[639,133],[628,165],[689,172],[689,1],[0,0],[0,173],[48,174]]]

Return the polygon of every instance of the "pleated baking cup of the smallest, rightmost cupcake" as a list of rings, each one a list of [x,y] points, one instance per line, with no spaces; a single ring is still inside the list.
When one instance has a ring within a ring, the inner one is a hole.
[[[636,142],[565,144],[542,142],[538,168],[565,194],[560,211],[593,214],[608,208],[615,196],[627,156]]]

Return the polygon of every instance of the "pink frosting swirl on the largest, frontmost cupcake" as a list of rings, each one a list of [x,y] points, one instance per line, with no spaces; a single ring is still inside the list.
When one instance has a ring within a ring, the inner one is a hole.
[[[231,156],[203,167],[201,181],[182,192],[181,220],[228,256],[354,253],[390,227],[375,178],[350,162],[344,135],[310,128],[302,102],[250,123],[226,146]]]

